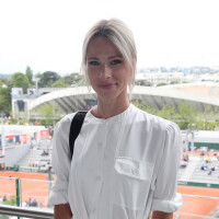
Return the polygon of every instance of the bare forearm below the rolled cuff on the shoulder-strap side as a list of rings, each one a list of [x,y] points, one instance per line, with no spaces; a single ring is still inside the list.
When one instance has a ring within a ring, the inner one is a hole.
[[[71,219],[72,212],[69,204],[55,205],[54,207],[54,219]]]

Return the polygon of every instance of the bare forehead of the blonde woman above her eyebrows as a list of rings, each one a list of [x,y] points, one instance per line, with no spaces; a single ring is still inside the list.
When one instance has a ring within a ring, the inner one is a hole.
[[[96,56],[122,56],[117,47],[105,37],[97,37],[89,42],[87,57]]]

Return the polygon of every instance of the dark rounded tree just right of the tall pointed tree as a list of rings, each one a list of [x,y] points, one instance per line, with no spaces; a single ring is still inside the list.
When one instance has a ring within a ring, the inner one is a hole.
[[[58,81],[60,76],[54,71],[46,71],[42,74],[39,84],[42,88],[49,88],[55,81]]]

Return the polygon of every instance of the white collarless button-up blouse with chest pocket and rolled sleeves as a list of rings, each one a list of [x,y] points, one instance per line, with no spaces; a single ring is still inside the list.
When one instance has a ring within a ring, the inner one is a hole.
[[[69,129],[74,114],[55,128],[50,205],[69,203],[73,219],[147,219],[150,210],[176,211],[181,131],[172,122],[134,105],[102,119],[88,112],[72,161]]]

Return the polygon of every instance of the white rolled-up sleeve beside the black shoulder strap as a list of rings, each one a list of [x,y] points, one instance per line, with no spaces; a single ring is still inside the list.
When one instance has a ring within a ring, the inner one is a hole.
[[[51,163],[57,180],[48,197],[48,203],[51,206],[68,203],[71,166],[69,149],[70,123],[69,116],[66,116],[56,125],[54,130]]]

